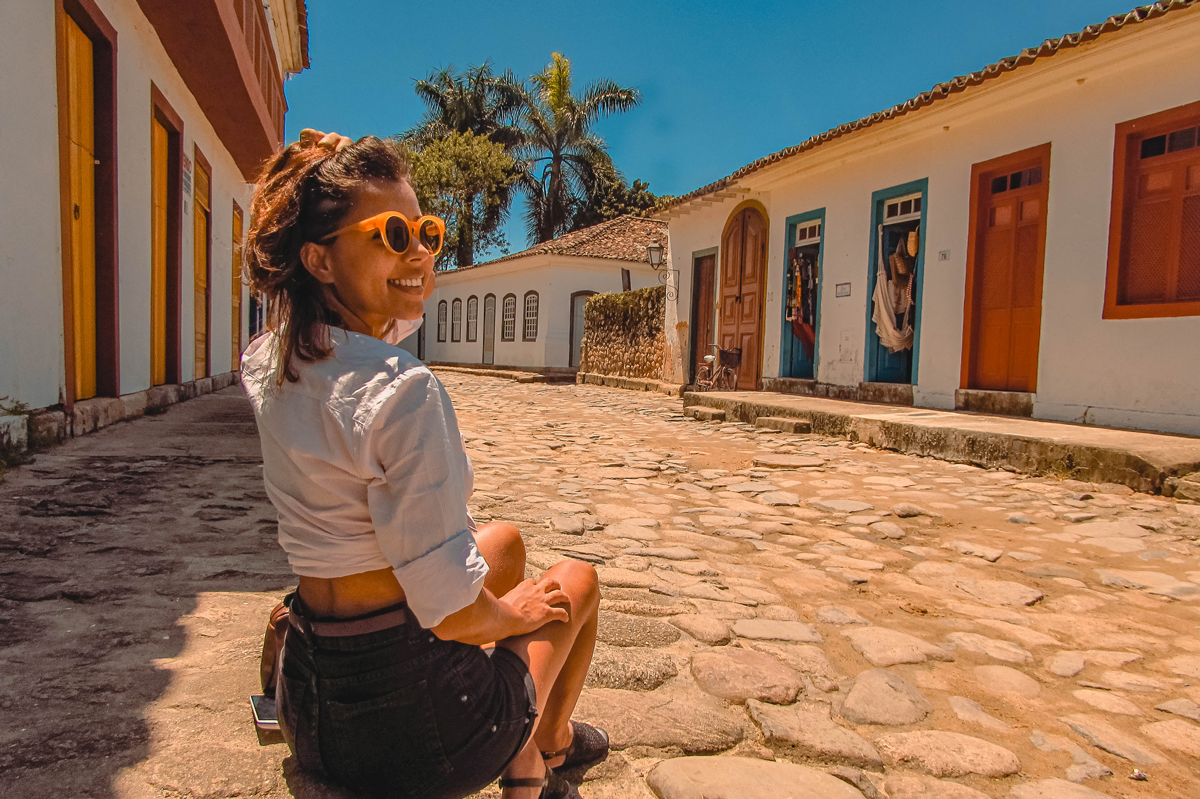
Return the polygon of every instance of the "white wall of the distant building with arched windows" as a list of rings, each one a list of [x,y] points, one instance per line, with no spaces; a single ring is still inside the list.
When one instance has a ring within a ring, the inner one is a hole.
[[[484,298],[496,295],[496,366],[568,367],[570,361],[571,294],[620,292],[620,270],[630,270],[634,289],[656,286],[648,264],[601,258],[530,256],[508,262],[440,272],[437,288],[425,302],[425,360],[446,364],[481,364],[484,355]],[[524,295],[538,292],[538,338],[522,341]],[[517,298],[515,341],[500,341],[504,296]],[[467,299],[479,298],[479,334],[467,341]],[[462,337],[451,338],[454,300],[462,300]],[[446,302],[446,340],[438,337],[438,302]],[[413,344],[415,346],[415,344]]]

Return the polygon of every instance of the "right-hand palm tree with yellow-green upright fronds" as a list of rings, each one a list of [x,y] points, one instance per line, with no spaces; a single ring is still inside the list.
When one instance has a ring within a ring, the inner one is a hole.
[[[521,187],[529,204],[526,224],[529,238],[548,241],[566,233],[576,208],[620,173],[608,156],[604,139],[592,126],[608,114],[637,106],[637,89],[596,80],[583,94],[571,94],[571,62],[562,53],[529,78],[532,89],[523,113],[524,143],[518,152],[524,161]]]

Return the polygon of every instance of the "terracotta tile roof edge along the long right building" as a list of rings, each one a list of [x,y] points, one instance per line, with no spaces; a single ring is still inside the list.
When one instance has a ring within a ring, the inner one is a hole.
[[[1027,66],[1039,59],[1049,58],[1055,53],[1058,53],[1060,50],[1066,50],[1074,47],[1079,47],[1080,44],[1086,44],[1088,42],[1099,38],[1100,36],[1104,36],[1105,34],[1116,32],[1126,28],[1127,25],[1142,23],[1146,22],[1147,19],[1156,19],[1172,11],[1180,11],[1192,6],[1200,7],[1200,0],[1162,0],[1160,2],[1156,2],[1150,6],[1138,6],[1133,11],[1124,14],[1115,14],[1112,17],[1109,17],[1100,24],[1088,25],[1087,28],[1076,34],[1067,34],[1066,36],[1060,36],[1058,38],[1048,38],[1046,41],[1042,42],[1042,44],[1039,44],[1038,47],[1031,47],[1024,49],[1019,54],[1009,56],[1007,59],[1001,59],[995,64],[985,66],[983,70],[979,70],[978,72],[959,76],[946,83],[940,83],[929,91],[923,91],[922,94],[900,103],[899,106],[893,106],[887,110],[877,112],[875,114],[871,114],[870,116],[864,116],[863,119],[856,120],[853,122],[846,122],[844,125],[839,125],[838,127],[826,131],[824,133],[818,133],[817,136],[814,136],[802,142],[800,144],[786,148],[784,150],[780,150],[779,152],[773,152],[769,156],[758,158],[757,161],[749,163],[745,167],[742,167],[732,175],[721,178],[716,182],[702,186],[694,192],[689,192],[688,194],[680,194],[679,197],[676,197],[673,200],[671,200],[671,203],[668,203],[664,209],[661,209],[660,212],[683,205],[698,197],[719,192],[730,184],[736,182],[739,178],[744,178],[750,173],[758,172],[760,169],[774,164],[779,161],[784,161],[785,158],[799,155],[800,152],[804,152],[806,150],[811,150],[821,144],[824,144],[826,142],[830,142],[833,139],[846,136],[847,133],[853,133],[854,131],[860,131],[872,125],[878,125],[880,122],[884,122],[887,120],[895,119],[898,116],[902,116],[905,114],[919,110],[926,106],[937,102],[938,100],[944,100],[953,94],[958,94],[971,86],[977,86],[982,84],[984,80],[988,80],[990,78],[996,78],[1007,72],[1012,72],[1013,70],[1016,70],[1019,67]]]

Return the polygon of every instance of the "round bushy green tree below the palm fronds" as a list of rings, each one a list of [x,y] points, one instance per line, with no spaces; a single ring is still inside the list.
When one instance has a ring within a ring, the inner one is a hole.
[[[438,269],[468,266],[491,247],[508,251],[500,222],[517,173],[504,145],[454,132],[420,149],[409,146],[409,160],[421,210],[446,223]]]

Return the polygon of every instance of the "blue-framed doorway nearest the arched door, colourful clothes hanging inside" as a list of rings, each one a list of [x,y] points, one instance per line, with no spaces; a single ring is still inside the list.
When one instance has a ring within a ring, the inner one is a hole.
[[[784,270],[784,325],[780,376],[816,377],[821,318],[821,240],[824,210],[788,217],[787,262]]]

